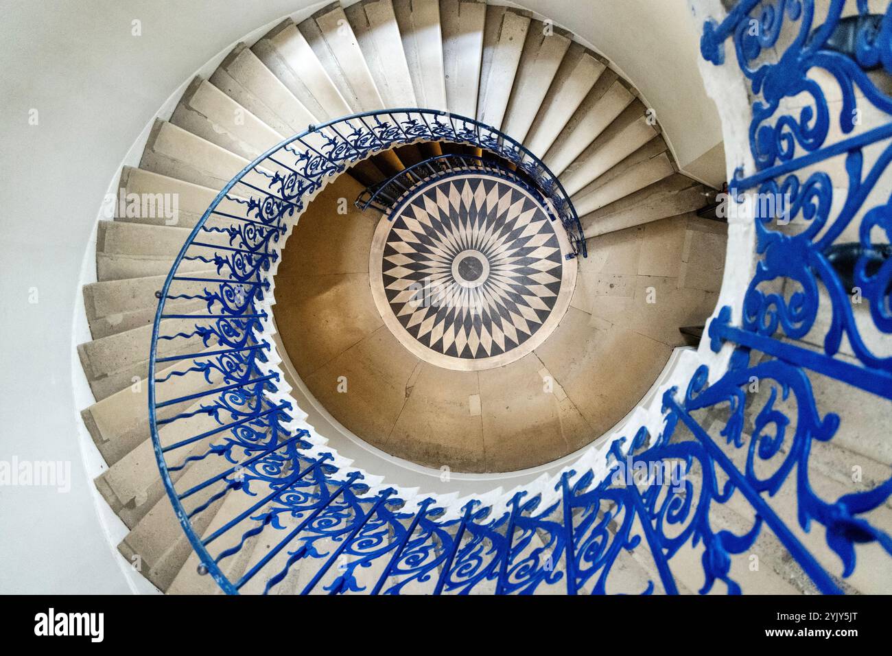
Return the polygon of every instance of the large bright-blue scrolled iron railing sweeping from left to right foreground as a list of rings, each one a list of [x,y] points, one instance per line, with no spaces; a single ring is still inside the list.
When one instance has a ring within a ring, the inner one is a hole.
[[[825,381],[880,403],[879,410],[871,406],[879,419],[892,416],[892,361],[877,352],[888,347],[892,328],[892,268],[888,261],[870,270],[855,265],[872,320],[859,328],[824,256],[857,217],[865,248],[877,230],[888,238],[892,185],[882,183],[887,198],[866,201],[892,157],[892,146],[882,145],[892,137],[892,107],[858,66],[824,53],[820,37],[804,45],[814,3],[781,0],[769,12],[771,6],[744,2],[723,22],[707,23],[703,52],[721,63],[724,41],[733,37],[752,80],[756,170],[734,179],[734,195],[787,190],[791,214],[805,228],[789,232],[767,216],[756,220],[757,262],[746,295],[739,307],[717,312],[708,344],[690,353],[692,366],[679,374],[683,385],[665,389],[656,426],[642,420],[606,449],[591,447],[547,485],[456,501],[364,482],[373,477],[320,446],[302,423],[277,369],[269,325],[281,242],[308,200],[351,162],[438,139],[482,147],[553,180],[541,162],[473,120],[399,110],[310,129],[232,180],[164,285],[150,361],[155,453],[202,571],[227,593],[283,585],[329,594],[531,594],[546,587],[567,594],[737,593],[753,571],[751,552],[765,540],[789,554],[780,559],[789,568],[783,578],[805,591],[846,591],[865,547],[873,558],[879,547],[888,569],[892,538],[875,512],[888,503],[892,478],[825,498],[812,485],[810,458],[846,428],[838,408],[822,407],[834,394],[816,398]],[[830,4],[821,34],[830,33],[841,7]],[[762,26],[760,37],[747,36],[750,21]],[[884,30],[890,21],[887,14]],[[791,32],[799,36],[778,40]],[[890,43],[879,38],[867,54],[886,71]],[[752,65],[772,47],[781,48],[778,61]],[[857,85],[859,100],[884,118],[847,137],[855,126],[841,116],[843,136],[831,137],[827,102],[806,79],[813,67],[831,72],[844,110],[855,107]],[[814,105],[797,120],[780,101],[803,90]],[[882,147],[865,177],[869,145]],[[828,184],[831,174],[821,167],[804,183],[797,178],[798,170],[836,156],[846,160],[842,184]],[[539,187],[562,217],[573,216],[557,180]],[[844,193],[845,202],[830,203],[833,193]],[[216,274],[192,273],[202,268]],[[766,291],[766,282],[775,285]],[[201,294],[183,291],[196,283],[205,285]],[[167,314],[165,302],[183,295],[202,298],[207,313]],[[822,327],[822,345],[806,345]],[[868,331],[871,340],[862,338]],[[844,335],[854,358],[839,353]],[[178,381],[196,377],[205,391],[177,393]],[[265,548],[253,550],[258,540]]]

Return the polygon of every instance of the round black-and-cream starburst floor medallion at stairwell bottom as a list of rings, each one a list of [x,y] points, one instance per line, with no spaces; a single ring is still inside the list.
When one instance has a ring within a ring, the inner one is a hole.
[[[382,220],[372,291],[418,357],[450,369],[497,367],[541,344],[566,312],[575,280],[568,248],[560,222],[524,188],[452,176],[422,184]]]

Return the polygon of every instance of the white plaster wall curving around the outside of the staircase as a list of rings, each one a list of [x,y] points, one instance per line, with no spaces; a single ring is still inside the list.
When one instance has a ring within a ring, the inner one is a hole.
[[[0,461],[70,462],[72,479],[66,494],[0,487],[0,593],[145,590],[113,552],[120,527],[95,504],[96,463],[81,448],[78,411],[89,390],[73,345],[88,339],[80,274],[90,269],[99,205],[137,137],[195,71],[252,30],[315,4],[4,2]],[[685,23],[681,0],[524,5],[597,44],[640,86],[679,162],[721,140],[698,78],[698,26]],[[134,20],[142,36],[131,34]],[[686,102],[676,106],[676,98]],[[29,125],[32,109],[37,126]]]

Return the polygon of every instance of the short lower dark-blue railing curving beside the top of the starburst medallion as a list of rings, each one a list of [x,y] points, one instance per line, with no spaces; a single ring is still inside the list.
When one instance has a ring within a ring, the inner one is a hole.
[[[442,154],[412,164],[389,179],[368,187],[356,199],[356,206],[363,212],[369,207],[373,207],[378,212],[388,212],[403,195],[419,183],[467,171],[491,173],[513,180],[517,185],[533,194],[533,197],[542,202],[545,200],[536,189],[533,179],[524,176],[523,171],[518,173],[516,170],[511,170],[505,163],[492,157],[480,157],[473,154]],[[548,209],[547,203],[546,209]],[[553,217],[553,219],[557,218]],[[579,242],[584,245],[585,240],[577,240],[577,243]]]

